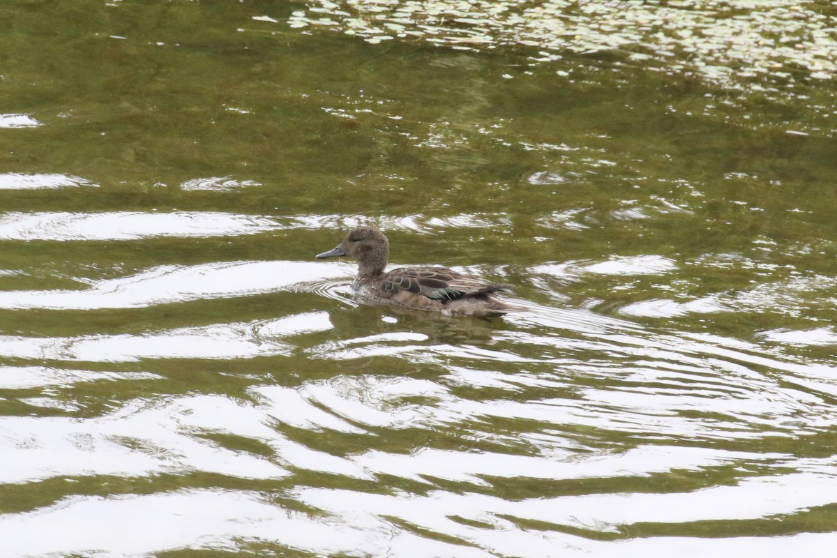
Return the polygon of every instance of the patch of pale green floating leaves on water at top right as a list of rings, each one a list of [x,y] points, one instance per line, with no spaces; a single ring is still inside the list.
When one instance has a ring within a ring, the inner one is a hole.
[[[307,9],[292,14],[290,27],[337,31],[370,44],[419,39],[469,50],[518,44],[537,49],[531,59],[540,63],[568,53],[610,51],[632,63],[721,82],[744,78],[775,84],[777,77],[793,81],[799,69],[815,79],[831,79],[837,70],[834,13],[798,0],[685,0],[631,9],[618,0],[305,4]]]

